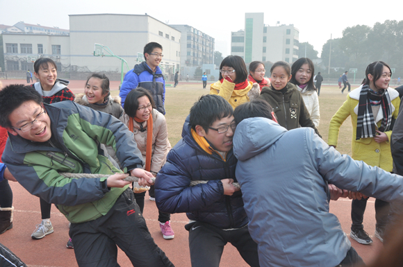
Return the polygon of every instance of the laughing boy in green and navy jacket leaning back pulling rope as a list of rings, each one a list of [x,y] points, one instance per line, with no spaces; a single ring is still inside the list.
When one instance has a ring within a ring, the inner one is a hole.
[[[0,91],[0,126],[9,133],[2,160],[29,193],[54,203],[72,223],[69,236],[79,266],[118,266],[119,246],[134,266],[173,266],[156,246],[134,201],[130,182],[100,144],[113,146],[125,173],[149,185],[142,155],[122,122],[90,107],[42,103],[33,87]],[[101,178],[65,178],[60,173]]]

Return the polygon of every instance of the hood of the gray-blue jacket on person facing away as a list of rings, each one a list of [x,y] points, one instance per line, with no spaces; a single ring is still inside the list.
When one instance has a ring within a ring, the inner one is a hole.
[[[271,119],[244,119],[236,126],[233,153],[240,161],[248,160],[272,146],[285,132],[286,128]]]

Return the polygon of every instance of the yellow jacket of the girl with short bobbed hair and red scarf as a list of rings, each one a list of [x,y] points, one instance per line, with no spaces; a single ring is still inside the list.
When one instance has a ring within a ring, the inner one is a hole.
[[[220,80],[210,85],[210,94],[217,94],[227,100],[233,109],[245,102],[249,102],[248,93],[253,87],[252,82],[248,82],[245,89],[234,90],[235,83],[225,80],[221,83]],[[258,90],[260,92],[260,89]]]

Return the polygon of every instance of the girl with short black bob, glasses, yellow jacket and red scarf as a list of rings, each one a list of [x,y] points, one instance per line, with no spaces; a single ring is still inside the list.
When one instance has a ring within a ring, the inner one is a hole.
[[[233,109],[260,95],[258,84],[247,80],[245,62],[238,55],[229,55],[220,65],[220,80],[210,86],[210,94],[217,94],[227,100]]]

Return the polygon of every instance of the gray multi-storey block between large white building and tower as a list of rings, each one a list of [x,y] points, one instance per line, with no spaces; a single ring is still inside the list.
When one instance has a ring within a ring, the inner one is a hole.
[[[170,25],[181,32],[181,66],[201,67],[214,62],[214,38],[189,25]]]

